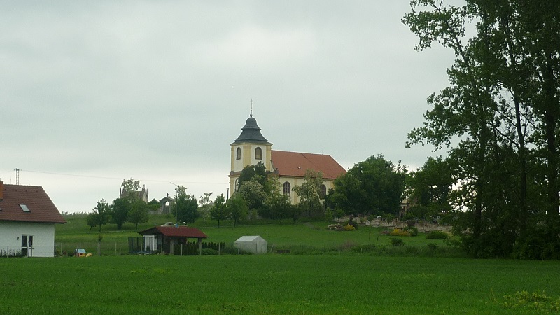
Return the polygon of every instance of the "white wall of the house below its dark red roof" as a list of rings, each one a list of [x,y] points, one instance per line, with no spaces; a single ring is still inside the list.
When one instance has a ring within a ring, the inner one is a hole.
[[[55,224],[0,221],[0,252],[21,252],[22,239],[33,237],[27,255],[32,257],[54,257],[55,255]]]

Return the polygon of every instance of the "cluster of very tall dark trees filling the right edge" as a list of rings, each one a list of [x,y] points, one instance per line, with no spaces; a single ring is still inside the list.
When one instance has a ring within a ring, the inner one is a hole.
[[[440,149],[457,143],[449,161],[461,184],[456,232],[465,248],[475,256],[510,255],[534,247],[525,244],[537,233],[560,249],[554,236],[560,232],[560,4],[470,0],[452,6],[418,0],[411,5],[403,22],[419,36],[416,49],[437,42],[456,55],[448,71],[451,85],[428,98],[433,109],[424,126],[409,134],[409,144],[427,141]],[[535,185],[539,182],[544,191]],[[539,228],[544,226],[549,228]],[[548,255],[543,251],[528,256]]]

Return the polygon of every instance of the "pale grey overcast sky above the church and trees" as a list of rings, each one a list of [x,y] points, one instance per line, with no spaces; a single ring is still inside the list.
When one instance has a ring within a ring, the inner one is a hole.
[[[150,199],[228,188],[250,113],[273,149],[405,148],[453,56],[415,52],[409,1],[0,1],[0,179],[91,211],[138,179]]]

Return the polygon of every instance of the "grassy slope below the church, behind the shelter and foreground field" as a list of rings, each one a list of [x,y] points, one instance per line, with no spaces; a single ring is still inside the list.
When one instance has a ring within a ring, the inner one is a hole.
[[[69,253],[74,248],[83,247],[88,252],[97,253],[97,236],[99,228],[90,230],[85,223],[85,216],[67,216],[68,223],[56,226],[55,243],[57,248],[61,248]],[[151,228],[159,225],[172,218],[167,216],[151,216],[148,223],[139,225],[139,230]],[[356,231],[341,232],[328,230],[326,222],[312,223],[290,223],[290,222],[274,222],[270,224],[266,221],[255,221],[252,225],[237,225],[233,227],[230,221],[225,221],[218,228],[218,224],[214,221],[207,221],[190,225],[200,228],[209,236],[207,241],[225,242],[232,244],[236,239],[243,235],[260,235],[268,241],[269,246],[274,248],[301,248],[314,247],[321,249],[327,248],[348,248],[353,245],[376,244],[388,245],[389,239],[385,235],[380,235],[381,230],[377,228],[362,227]],[[263,223],[263,224],[254,224]],[[117,253],[127,253],[128,237],[138,237],[139,234],[135,230],[135,226],[131,223],[125,223],[123,230],[116,230],[116,225],[109,224],[102,227],[102,254],[113,255],[116,248]],[[445,247],[443,241],[428,241],[423,234],[418,237],[403,237],[406,245],[409,246],[426,246],[426,244],[437,244],[437,246]]]

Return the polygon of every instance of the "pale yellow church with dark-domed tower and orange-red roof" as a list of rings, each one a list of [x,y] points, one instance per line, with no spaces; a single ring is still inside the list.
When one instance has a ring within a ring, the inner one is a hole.
[[[248,165],[262,162],[267,172],[279,178],[281,193],[290,197],[292,204],[300,202],[292,191],[294,186],[304,183],[307,169],[323,174],[321,198],[324,198],[335,179],[346,170],[330,155],[272,150],[272,144],[262,136],[253,114],[247,118],[241,134],[231,146],[230,192],[237,189],[239,174]]]

